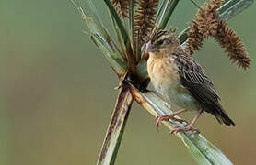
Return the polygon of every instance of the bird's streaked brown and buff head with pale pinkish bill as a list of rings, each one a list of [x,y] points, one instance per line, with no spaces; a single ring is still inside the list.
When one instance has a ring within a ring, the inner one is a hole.
[[[169,55],[177,47],[180,47],[180,40],[174,30],[158,30],[146,43],[145,53],[156,57]]]

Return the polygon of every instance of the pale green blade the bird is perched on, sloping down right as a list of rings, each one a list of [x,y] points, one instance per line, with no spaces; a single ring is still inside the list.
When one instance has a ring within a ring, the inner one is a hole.
[[[133,93],[134,100],[141,104],[146,111],[148,111],[154,117],[158,115],[169,115],[171,111],[166,103],[160,99],[155,93],[147,92],[140,93],[131,83],[131,92]],[[173,126],[183,126],[179,123],[169,120],[169,122],[163,122],[169,130],[173,129]],[[183,141],[185,146],[189,149],[193,159],[198,164],[202,165],[231,165],[232,162],[213,144],[206,140],[202,135],[193,134],[190,132],[178,133],[177,136]]]

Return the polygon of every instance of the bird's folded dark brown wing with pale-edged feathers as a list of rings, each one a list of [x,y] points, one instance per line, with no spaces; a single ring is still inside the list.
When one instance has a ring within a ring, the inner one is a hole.
[[[192,93],[192,96],[204,107],[206,112],[215,114],[222,111],[218,103],[220,98],[215,92],[213,83],[204,74],[202,67],[188,55],[174,56],[178,66],[181,84]],[[224,111],[224,110],[223,110]]]

